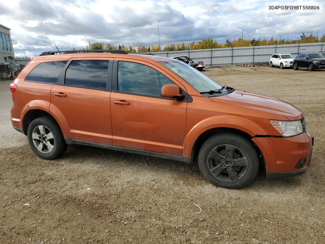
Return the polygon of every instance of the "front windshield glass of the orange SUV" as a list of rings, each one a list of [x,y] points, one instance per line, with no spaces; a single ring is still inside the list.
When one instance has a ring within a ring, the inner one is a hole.
[[[160,63],[175,72],[199,92],[218,90],[222,88],[222,86],[214,80],[203,75],[200,71],[182,61],[167,61]]]

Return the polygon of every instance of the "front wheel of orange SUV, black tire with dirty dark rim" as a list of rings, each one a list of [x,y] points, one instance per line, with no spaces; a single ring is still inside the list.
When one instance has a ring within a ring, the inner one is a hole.
[[[245,137],[221,133],[208,138],[199,152],[199,168],[212,184],[242,188],[255,179],[259,168],[257,152]]]

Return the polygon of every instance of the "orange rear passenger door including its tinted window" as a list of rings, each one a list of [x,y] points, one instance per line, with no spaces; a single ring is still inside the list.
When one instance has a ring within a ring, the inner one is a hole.
[[[50,111],[60,117],[65,139],[112,144],[112,66],[112,58],[74,58],[61,72],[51,89]]]

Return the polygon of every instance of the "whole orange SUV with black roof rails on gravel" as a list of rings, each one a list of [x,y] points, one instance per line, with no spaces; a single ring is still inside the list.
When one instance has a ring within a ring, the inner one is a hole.
[[[287,102],[221,86],[171,58],[60,52],[32,57],[10,84],[12,125],[41,158],[82,144],[197,162],[226,188],[249,185],[259,168],[274,178],[309,167],[314,137]]]

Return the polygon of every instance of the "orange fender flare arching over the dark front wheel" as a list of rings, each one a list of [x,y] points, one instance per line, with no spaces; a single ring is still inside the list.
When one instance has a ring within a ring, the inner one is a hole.
[[[187,135],[185,135],[183,143],[183,156],[191,158],[194,143],[203,132],[209,129],[222,127],[238,129],[244,131],[252,137],[255,135],[266,135],[266,131],[262,127],[246,118],[232,115],[209,117],[198,122],[195,126],[192,127]]]

